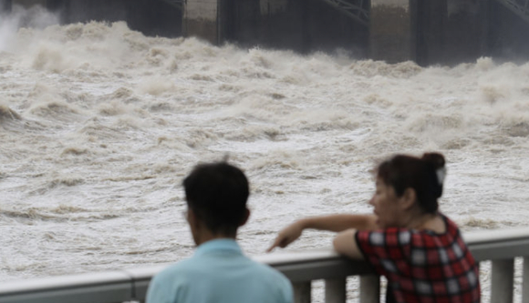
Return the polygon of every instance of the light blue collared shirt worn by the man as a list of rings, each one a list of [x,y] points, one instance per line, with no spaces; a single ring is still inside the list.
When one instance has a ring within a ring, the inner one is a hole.
[[[147,303],[292,303],[292,285],[269,266],[244,256],[232,239],[197,247],[192,258],[150,281]]]

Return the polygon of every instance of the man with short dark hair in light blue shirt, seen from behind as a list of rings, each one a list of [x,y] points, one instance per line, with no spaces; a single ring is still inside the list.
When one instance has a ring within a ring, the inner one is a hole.
[[[283,274],[244,256],[235,238],[250,211],[248,180],[225,162],[202,164],[183,180],[187,221],[197,249],[192,258],[150,282],[147,303],[291,303]]]

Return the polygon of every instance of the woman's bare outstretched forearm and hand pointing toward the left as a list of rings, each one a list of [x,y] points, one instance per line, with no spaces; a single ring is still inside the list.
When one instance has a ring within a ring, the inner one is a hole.
[[[287,247],[301,236],[304,229],[318,229],[341,232],[350,228],[358,230],[376,229],[377,217],[374,215],[330,215],[323,217],[306,217],[282,229],[275,238],[274,244],[266,251],[275,247]]]

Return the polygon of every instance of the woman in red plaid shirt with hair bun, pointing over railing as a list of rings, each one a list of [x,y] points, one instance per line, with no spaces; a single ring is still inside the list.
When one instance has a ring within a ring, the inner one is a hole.
[[[438,211],[444,165],[437,153],[391,157],[376,169],[373,215],[301,219],[268,251],[288,246],[306,228],[336,231],[338,253],[365,259],[388,278],[388,303],[480,302],[478,264],[459,228]]]

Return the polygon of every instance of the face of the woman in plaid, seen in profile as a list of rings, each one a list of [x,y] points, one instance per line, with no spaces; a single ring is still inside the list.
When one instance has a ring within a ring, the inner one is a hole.
[[[375,194],[369,200],[369,204],[374,207],[373,213],[377,216],[377,224],[380,228],[400,226],[401,210],[398,201],[399,197],[395,194],[395,189],[377,177]]]

